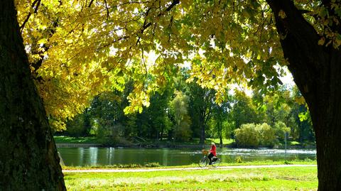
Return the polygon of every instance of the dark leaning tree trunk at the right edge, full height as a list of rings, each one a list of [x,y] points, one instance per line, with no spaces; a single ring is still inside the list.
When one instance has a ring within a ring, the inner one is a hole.
[[[288,69],[310,110],[316,137],[318,190],[341,190],[341,49],[320,36],[293,1],[270,1]],[[285,18],[278,16],[286,13]]]

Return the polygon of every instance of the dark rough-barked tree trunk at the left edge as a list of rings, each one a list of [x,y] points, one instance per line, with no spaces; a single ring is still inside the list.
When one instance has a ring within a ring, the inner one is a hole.
[[[66,190],[13,0],[0,6],[0,190]]]

